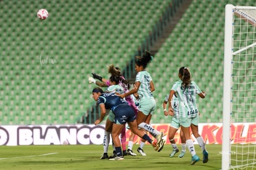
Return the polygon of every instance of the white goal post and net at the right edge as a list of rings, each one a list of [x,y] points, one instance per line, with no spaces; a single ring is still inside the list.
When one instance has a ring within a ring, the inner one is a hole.
[[[256,169],[256,7],[225,11],[221,169]]]

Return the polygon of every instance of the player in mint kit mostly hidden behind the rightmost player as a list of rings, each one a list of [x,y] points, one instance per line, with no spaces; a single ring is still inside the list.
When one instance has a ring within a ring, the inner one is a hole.
[[[166,110],[166,105],[168,103],[168,99],[169,99],[169,94],[167,94],[164,97],[164,101],[163,101],[163,109],[164,109],[165,116],[168,116],[168,111]],[[173,98],[171,100],[172,100],[171,103],[172,103],[172,107],[174,110],[174,115],[170,115],[170,116],[172,116],[172,118],[171,118],[171,124],[169,125],[168,137],[169,137],[169,142],[171,143],[171,146],[173,147],[173,152],[170,153],[169,156],[173,157],[176,153],[179,152],[179,149],[177,148],[174,136],[175,136],[177,130],[179,129],[180,124],[179,124],[179,108],[178,108],[179,102],[177,100],[176,94],[173,95]],[[186,139],[183,136],[182,131],[180,131],[180,137],[181,137],[182,151],[181,151],[181,154],[179,154],[179,158],[182,158],[186,153]]]

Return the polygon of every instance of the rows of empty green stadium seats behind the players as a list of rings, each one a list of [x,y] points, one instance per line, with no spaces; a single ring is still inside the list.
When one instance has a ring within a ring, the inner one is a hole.
[[[126,68],[166,14],[186,2],[0,1],[0,124],[93,123],[92,72],[108,78],[111,63]],[[222,121],[224,5],[192,1],[148,65],[157,109],[151,123],[169,123],[164,95],[186,65],[207,99],[198,99],[201,122]],[[234,0],[252,6],[254,1]],[[49,18],[39,20],[38,9]],[[167,22],[167,21],[164,21]],[[130,68],[133,70],[133,68]]]

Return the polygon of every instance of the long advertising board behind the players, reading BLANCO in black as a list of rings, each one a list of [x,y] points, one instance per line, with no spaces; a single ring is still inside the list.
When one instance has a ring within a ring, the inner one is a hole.
[[[152,124],[164,133],[166,144],[169,144],[169,124]],[[41,125],[41,126],[0,126],[0,145],[89,145],[103,144],[105,126],[93,124],[76,125]],[[174,139],[181,144],[179,131]],[[198,132],[207,144],[222,143],[222,123],[200,123]],[[128,142],[130,130],[126,131]],[[192,140],[197,140],[192,135]],[[134,144],[140,143],[140,138],[135,136]],[[256,144],[256,123],[231,124],[231,144]],[[112,143],[110,143],[112,144]]]

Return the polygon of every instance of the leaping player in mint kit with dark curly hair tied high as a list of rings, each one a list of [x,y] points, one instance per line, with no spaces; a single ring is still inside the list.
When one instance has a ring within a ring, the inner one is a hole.
[[[152,94],[155,91],[155,86],[153,84],[150,73],[145,70],[148,63],[153,59],[150,55],[150,52],[145,51],[142,57],[138,56],[135,61],[135,71],[137,72],[135,78],[134,88],[129,92],[119,95],[124,98],[131,94],[139,95],[139,112],[137,115],[137,123],[141,129],[145,129],[145,131],[150,132],[150,134],[156,138],[157,144],[160,145],[158,152],[163,148],[165,140],[163,139],[163,133],[154,129],[147,121],[150,119],[153,111],[155,111],[156,102],[154,96]],[[137,149],[138,152],[143,152],[142,148],[139,147]]]

